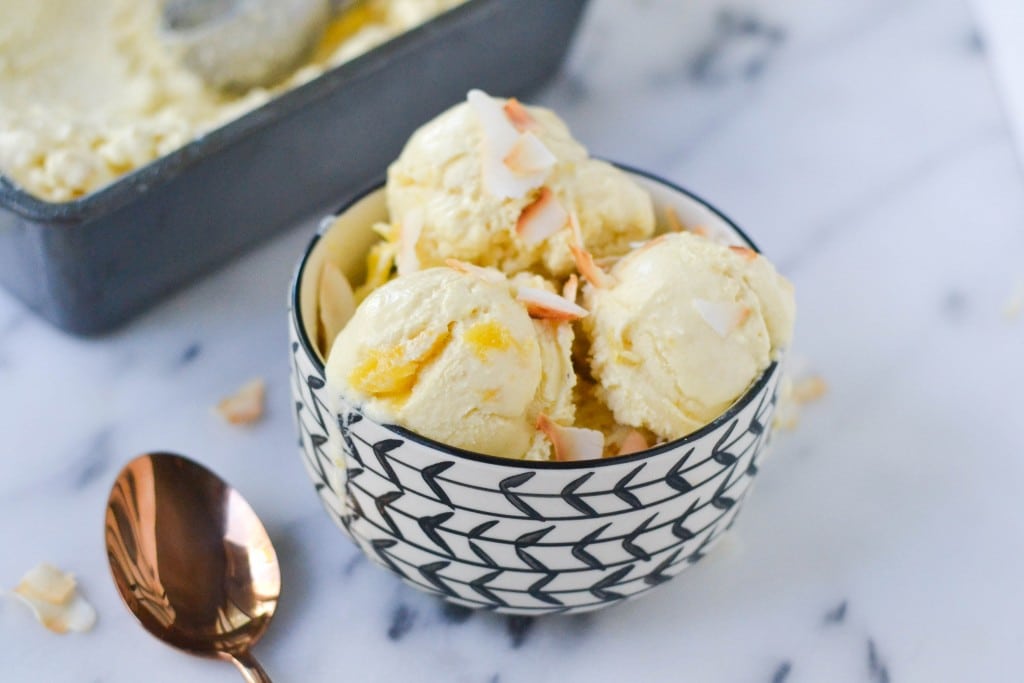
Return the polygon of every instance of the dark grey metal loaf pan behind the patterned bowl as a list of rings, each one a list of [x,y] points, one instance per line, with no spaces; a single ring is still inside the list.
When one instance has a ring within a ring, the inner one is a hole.
[[[379,177],[472,87],[528,93],[587,0],[470,0],[74,202],[0,177],[0,284],[57,327],[111,330]]]

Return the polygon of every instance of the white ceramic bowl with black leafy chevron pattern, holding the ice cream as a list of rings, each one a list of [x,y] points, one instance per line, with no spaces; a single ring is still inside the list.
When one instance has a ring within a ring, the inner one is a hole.
[[[664,211],[754,245],[689,193],[626,169]],[[331,517],[378,564],[468,607],[581,612],[644,593],[690,566],[732,525],[772,431],[773,364],[726,413],[685,438],[615,459],[505,460],[446,446],[358,407],[328,410],[315,314],[325,255],[357,279],[383,189],[326,220],[302,258],[290,311],[292,390],[302,461]]]

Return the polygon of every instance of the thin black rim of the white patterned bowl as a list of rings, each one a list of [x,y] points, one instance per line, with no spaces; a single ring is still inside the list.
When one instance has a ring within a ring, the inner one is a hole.
[[[697,204],[700,204],[709,211],[711,211],[713,214],[718,216],[722,221],[724,221],[726,225],[728,225],[733,231],[735,231],[735,233],[738,234],[743,240],[743,242],[745,242],[751,247],[751,249],[758,252],[759,254],[761,253],[761,250],[758,249],[757,245],[755,245],[754,242],[749,237],[746,237],[746,233],[743,232],[738,225],[732,222],[732,220],[730,220],[728,216],[719,211],[715,206],[705,201],[697,195],[694,195],[693,193],[687,189],[683,189],[676,183],[670,180],[666,180],[665,178],[654,175],[653,173],[633,168],[632,166],[627,166],[625,164],[618,164],[614,162],[612,163],[614,164],[615,167],[617,167],[623,171],[626,171],[627,173],[630,173],[632,175],[639,175],[641,177],[647,178],[648,180],[652,180],[658,184],[665,185],[666,187],[674,191],[679,193],[680,195],[688,197]],[[350,209],[352,206],[364,200],[369,195],[372,195],[373,193],[376,193],[377,190],[383,187],[384,187],[384,180],[378,179],[373,184],[368,186],[366,189],[352,196],[350,200],[345,202],[328,219],[325,219],[321,224],[319,229],[316,231],[316,234],[313,237],[313,239],[309,242],[309,245],[306,247],[305,252],[303,252],[302,258],[299,260],[299,264],[295,269],[295,274],[292,278],[292,290],[289,296],[289,302],[291,304],[290,306],[291,307],[290,315],[292,318],[291,322],[293,325],[295,325],[296,330],[298,332],[299,344],[302,346],[302,350],[305,352],[310,362],[312,362],[313,367],[319,371],[322,376],[326,375],[324,364],[321,362],[319,357],[316,355],[315,350],[313,350],[313,346],[309,341],[309,336],[306,334],[305,325],[303,325],[301,318],[302,309],[301,306],[299,305],[299,284],[302,282],[302,273],[305,271],[306,263],[309,261],[309,257],[313,253],[313,249],[315,249],[317,243],[319,243],[321,237],[326,230],[330,229],[331,226],[334,224],[333,219],[337,218],[345,211],[348,211],[348,209]],[[761,376],[750,387],[748,387],[748,389],[743,392],[743,394],[735,401],[733,401],[732,404],[729,405],[729,408],[726,409],[724,413],[722,413],[717,418],[715,418],[705,426],[700,427],[696,431],[690,432],[686,436],[674,439],[672,441],[666,441],[665,443],[660,443],[651,449],[647,449],[646,451],[640,451],[638,453],[633,453],[628,456],[615,456],[612,458],[600,458],[592,460],[572,460],[565,462],[553,461],[553,460],[520,460],[516,458],[503,458],[500,456],[488,456],[483,453],[466,451],[464,449],[460,449],[454,445],[449,445],[447,443],[442,443],[441,441],[435,441],[432,438],[428,438],[426,436],[423,436],[422,434],[410,431],[409,429],[406,429],[404,427],[400,427],[398,425],[389,425],[383,423],[376,423],[376,424],[380,424],[381,427],[387,429],[388,431],[393,432],[397,436],[401,436],[402,438],[415,441],[421,445],[433,449],[435,451],[439,451],[440,453],[443,453],[445,455],[453,456],[455,458],[462,458],[465,460],[472,460],[487,465],[501,465],[504,467],[514,467],[527,470],[534,470],[534,469],[562,470],[562,469],[605,467],[610,465],[620,465],[623,463],[633,463],[633,462],[643,461],[663,453],[676,451],[682,446],[685,446],[687,443],[696,441],[706,434],[715,431],[725,423],[735,418],[736,415],[740,413],[740,411],[746,408],[754,400],[754,397],[761,392],[761,389],[764,388],[764,386],[771,379],[772,375],[775,374],[777,367],[778,367],[778,361],[773,360],[771,365],[769,365],[764,370],[764,372],[761,373]]]

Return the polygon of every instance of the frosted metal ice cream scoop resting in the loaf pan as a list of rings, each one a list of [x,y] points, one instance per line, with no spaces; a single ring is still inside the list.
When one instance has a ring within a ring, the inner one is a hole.
[[[161,33],[218,90],[271,85],[306,59],[353,0],[164,0]]]

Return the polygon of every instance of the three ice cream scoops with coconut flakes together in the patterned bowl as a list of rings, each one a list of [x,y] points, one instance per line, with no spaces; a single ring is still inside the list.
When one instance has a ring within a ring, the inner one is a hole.
[[[322,347],[339,410],[494,456],[623,455],[713,421],[790,343],[793,287],[764,257],[653,237],[647,193],[547,110],[470,92],[386,199],[361,303]]]

